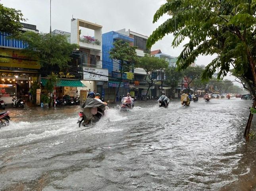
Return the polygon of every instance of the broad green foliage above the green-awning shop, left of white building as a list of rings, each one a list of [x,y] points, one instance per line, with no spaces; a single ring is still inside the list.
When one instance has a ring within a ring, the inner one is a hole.
[[[37,55],[41,67],[56,65],[61,69],[68,66],[71,61],[72,51],[78,48],[77,44],[70,44],[63,35],[50,35],[48,33],[25,32],[23,40],[29,43],[26,51],[28,54]]]

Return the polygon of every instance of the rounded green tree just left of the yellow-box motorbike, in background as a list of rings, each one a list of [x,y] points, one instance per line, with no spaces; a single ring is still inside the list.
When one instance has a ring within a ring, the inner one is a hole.
[[[171,90],[173,91],[174,88],[178,86],[179,82],[181,82],[183,74],[181,71],[177,70],[177,68],[173,66],[166,68],[165,74],[166,80],[164,81],[164,83],[166,83],[166,85],[169,85],[171,87]],[[173,97],[172,94],[171,97]]]

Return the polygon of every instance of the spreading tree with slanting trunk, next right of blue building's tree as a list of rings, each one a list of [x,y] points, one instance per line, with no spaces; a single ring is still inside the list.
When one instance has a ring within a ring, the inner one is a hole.
[[[168,62],[165,59],[145,54],[145,57],[141,57],[135,66],[146,71],[145,81],[148,83],[147,96],[150,87],[156,85],[158,76],[168,67]]]

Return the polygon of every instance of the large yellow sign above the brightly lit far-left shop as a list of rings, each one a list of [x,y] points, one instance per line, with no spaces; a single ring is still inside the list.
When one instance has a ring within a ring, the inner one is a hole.
[[[0,49],[0,55],[0,68],[2,69],[40,69],[38,58],[27,56],[24,53],[21,53],[20,50]]]

